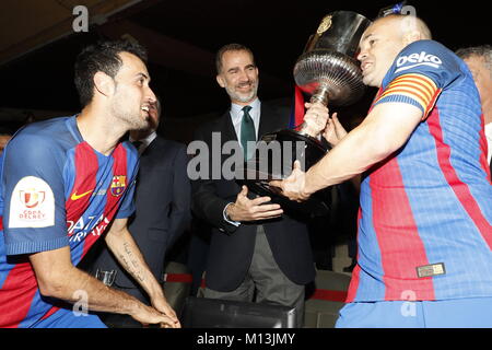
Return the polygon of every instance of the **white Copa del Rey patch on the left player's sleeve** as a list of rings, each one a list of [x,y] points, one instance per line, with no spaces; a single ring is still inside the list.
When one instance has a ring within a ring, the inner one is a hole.
[[[55,224],[55,197],[49,185],[35,176],[23,177],[10,200],[9,228],[47,228]]]

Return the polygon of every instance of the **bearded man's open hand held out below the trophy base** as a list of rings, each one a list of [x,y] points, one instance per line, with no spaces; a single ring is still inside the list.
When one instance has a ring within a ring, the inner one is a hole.
[[[258,221],[279,218],[283,210],[279,205],[263,205],[271,200],[270,197],[249,199],[248,188],[243,186],[236,197],[236,201],[226,209],[227,217],[233,221]]]

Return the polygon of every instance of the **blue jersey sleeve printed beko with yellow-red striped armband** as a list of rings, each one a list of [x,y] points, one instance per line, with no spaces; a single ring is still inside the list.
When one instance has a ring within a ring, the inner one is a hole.
[[[406,103],[422,110],[422,120],[435,105],[441,92],[461,74],[455,55],[433,40],[407,46],[395,59],[383,81],[384,91],[374,105]]]

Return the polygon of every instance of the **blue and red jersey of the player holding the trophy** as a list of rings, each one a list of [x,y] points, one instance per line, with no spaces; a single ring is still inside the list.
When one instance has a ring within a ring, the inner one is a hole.
[[[363,175],[348,302],[492,296],[492,186],[470,71],[436,42],[412,43],[373,106],[387,102],[423,117]]]

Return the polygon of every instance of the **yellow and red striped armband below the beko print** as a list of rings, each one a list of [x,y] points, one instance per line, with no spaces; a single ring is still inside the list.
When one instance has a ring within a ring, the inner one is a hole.
[[[409,73],[394,79],[374,102],[374,105],[385,102],[402,102],[422,109],[422,120],[434,107],[441,89],[432,79],[417,73]]]

